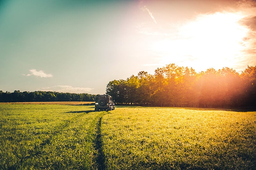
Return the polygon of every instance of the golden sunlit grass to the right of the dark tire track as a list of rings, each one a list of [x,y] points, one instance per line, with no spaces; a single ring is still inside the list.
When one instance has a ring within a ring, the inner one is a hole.
[[[256,112],[118,108],[102,119],[108,169],[255,169]]]

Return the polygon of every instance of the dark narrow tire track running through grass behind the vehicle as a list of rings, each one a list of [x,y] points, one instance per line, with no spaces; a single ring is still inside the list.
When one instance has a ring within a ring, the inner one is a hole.
[[[97,155],[96,155],[96,163],[98,164],[97,169],[100,169],[100,170],[106,169],[105,155],[102,151],[102,137],[101,137],[101,119],[103,115],[100,116],[99,121],[96,124],[96,138],[94,140],[94,145],[95,145],[94,148],[97,152]]]

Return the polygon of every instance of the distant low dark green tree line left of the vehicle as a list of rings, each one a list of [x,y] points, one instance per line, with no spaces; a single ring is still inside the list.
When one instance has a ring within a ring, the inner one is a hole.
[[[60,93],[52,91],[14,92],[0,91],[0,102],[93,102],[96,95],[87,93]]]

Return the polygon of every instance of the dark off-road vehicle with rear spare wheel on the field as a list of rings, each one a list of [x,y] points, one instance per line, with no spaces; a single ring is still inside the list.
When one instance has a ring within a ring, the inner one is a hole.
[[[95,98],[95,111],[115,110],[115,103],[109,95],[97,95]]]

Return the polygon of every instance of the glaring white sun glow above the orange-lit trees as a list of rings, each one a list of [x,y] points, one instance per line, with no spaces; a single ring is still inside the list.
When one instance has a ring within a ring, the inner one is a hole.
[[[199,15],[177,30],[177,37],[157,41],[152,49],[162,54],[163,63],[181,63],[204,71],[233,67],[245,48],[248,28],[239,21],[242,13],[217,12]]]

